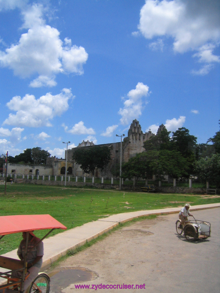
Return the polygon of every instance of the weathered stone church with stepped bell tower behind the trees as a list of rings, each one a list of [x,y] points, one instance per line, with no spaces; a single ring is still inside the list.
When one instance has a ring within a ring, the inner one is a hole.
[[[165,126],[162,124],[158,128],[159,133],[163,130]],[[135,156],[138,153],[145,151],[143,148],[143,143],[150,139],[150,137],[155,136],[150,130],[148,132],[143,133],[141,130],[141,125],[138,120],[133,120],[131,126],[128,130],[128,136],[124,137],[122,142],[122,163],[127,162],[130,158]],[[94,146],[93,142],[82,142],[78,147],[92,147]],[[121,155],[121,142],[109,143],[109,144],[99,144],[99,146],[108,146],[111,148],[111,159],[109,161],[108,166],[105,166],[103,170],[97,170],[95,173],[96,177],[114,177],[112,175],[112,171],[116,166],[120,164],[120,155]],[[75,148],[69,149],[67,151],[67,161],[72,161],[72,156]],[[66,157],[66,152],[65,152]],[[84,175],[92,175],[92,174],[84,174],[84,171],[77,165],[74,161],[72,161],[73,167],[73,176],[84,176]]]

